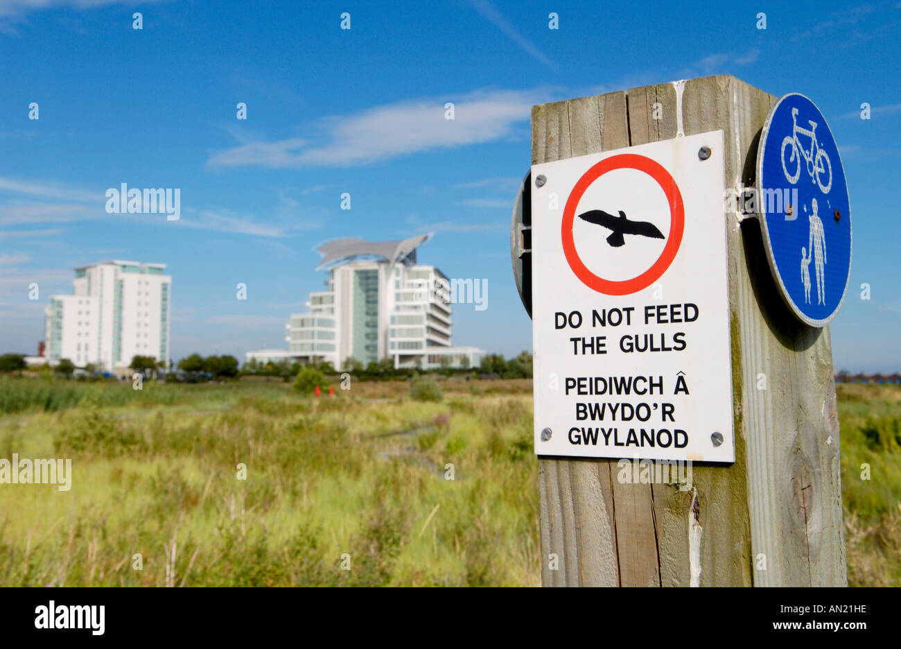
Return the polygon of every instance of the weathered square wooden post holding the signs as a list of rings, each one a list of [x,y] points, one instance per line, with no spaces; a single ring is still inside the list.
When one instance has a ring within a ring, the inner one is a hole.
[[[751,187],[776,99],[717,76],[536,105],[532,164],[722,129],[724,185]],[[696,462],[679,490],[540,457],[545,586],[847,585],[829,327],[789,313],[756,219],[724,219],[736,461]]]

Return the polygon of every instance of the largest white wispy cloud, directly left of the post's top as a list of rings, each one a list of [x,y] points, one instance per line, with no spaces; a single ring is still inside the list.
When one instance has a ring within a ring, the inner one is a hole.
[[[454,119],[444,117],[447,98],[380,105],[357,114],[333,115],[317,123],[321,142],[291,137],[245,142],[214,152],[210,168],[261,166],[271,169],[349,167],[397,156],[492,142],[528,121],[532,105],[547,101],[549,88],[483,90],[454,102]]]

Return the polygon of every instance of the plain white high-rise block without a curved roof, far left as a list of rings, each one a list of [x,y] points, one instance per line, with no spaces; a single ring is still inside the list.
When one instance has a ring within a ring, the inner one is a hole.
[[[75,295],[44,309],[47,358],[127,368],[134,356],[168,361],[172,278],[165,264],[106,261],[75,269]]]

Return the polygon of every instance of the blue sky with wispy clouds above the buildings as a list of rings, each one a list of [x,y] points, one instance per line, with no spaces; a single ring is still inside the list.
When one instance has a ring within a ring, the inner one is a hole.
[[[0,0],[0,352],[33,351],[42,306],[71,292],[75,266],[126,259],[168,264],[176,359],[242,360],[286,346],[287,315],[325,279],[313,271],[315,245],[424,232],[435,237],[420,261],[488,279],[486,310],[455,307],[454,343],[531,350],[509,255],[531,106],[730,73],[773,95],[804,93],[829,121],[854,219],[835,366],[901,368],[901,3],[636,11]],[[559,30],[548,28],[551,12]],[[443,119],[449,101],[453,121]],[[179,187],[181,218],[106,214],[105,190],[123,182]],[[28,300],[31,282],[40,302]],[[239,282],[247,300],[235,297]]]

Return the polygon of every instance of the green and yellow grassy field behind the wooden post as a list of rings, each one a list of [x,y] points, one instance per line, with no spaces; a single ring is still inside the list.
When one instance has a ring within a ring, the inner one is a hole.
[[[0,458],[73,460],[0,485],[0,583],[538,585],[531,381],[442,387],[0,379]],[[849,579],[901,585],[901,388],[839,394]]]

